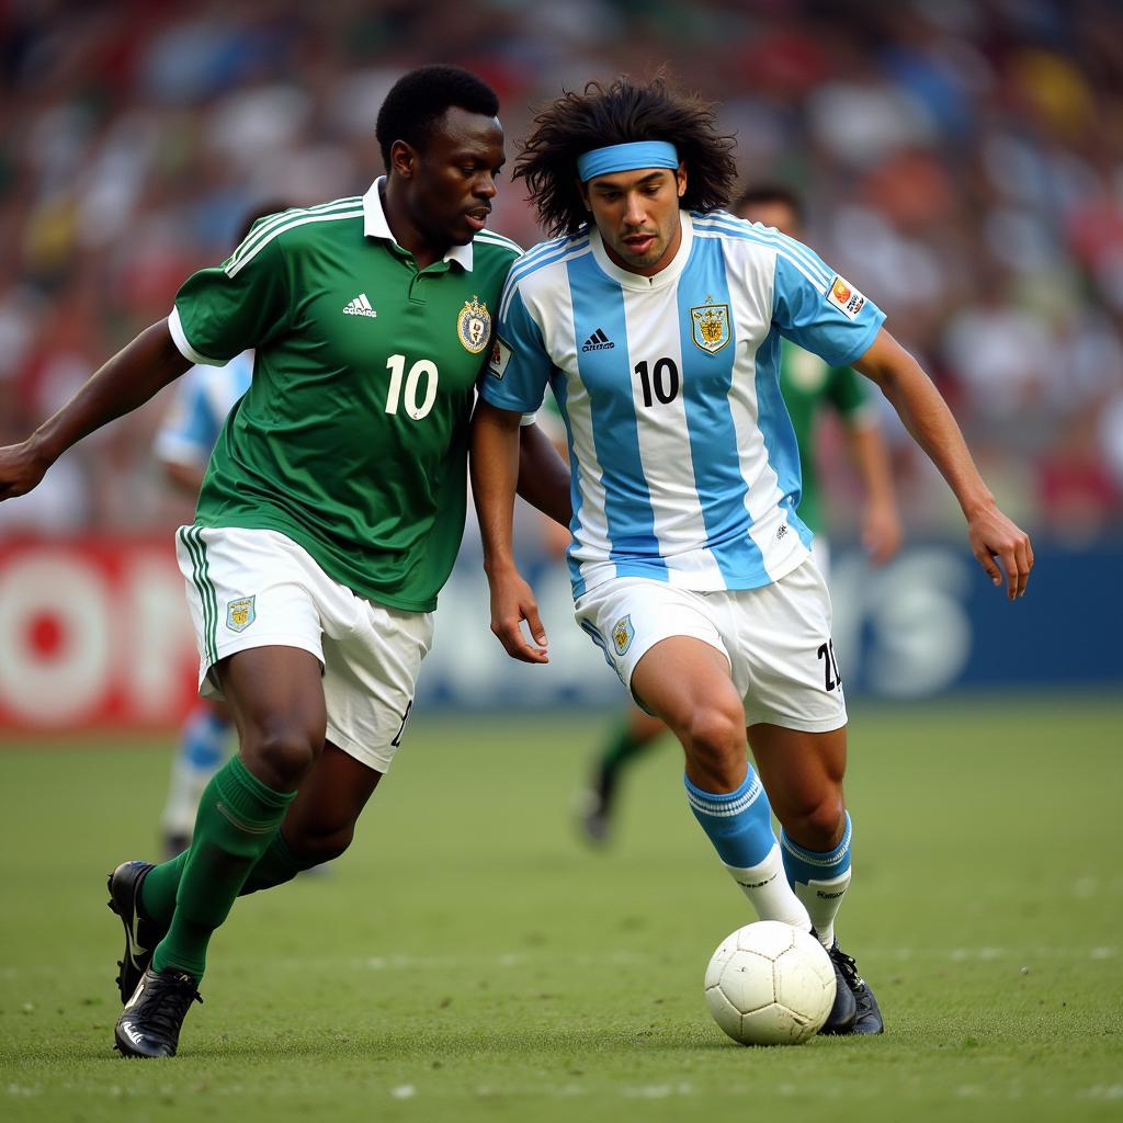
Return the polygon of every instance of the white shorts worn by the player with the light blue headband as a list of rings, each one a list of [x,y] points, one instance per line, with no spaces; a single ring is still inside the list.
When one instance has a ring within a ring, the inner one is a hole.
[[[746,725],[822,733],[846,724],[831,599],[810,558],[760,588],[697,593],[619,577],[579,596],[574,611],[629,692],[636,665],[656,643],[691,636],[729,660]]]

